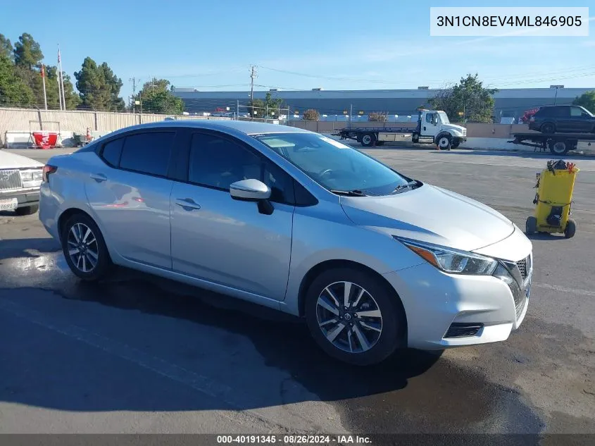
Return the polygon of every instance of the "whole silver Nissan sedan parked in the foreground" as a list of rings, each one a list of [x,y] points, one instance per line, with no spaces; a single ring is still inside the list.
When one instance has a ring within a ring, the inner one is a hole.
[[[506,340],[530,297],[500,213],[282,125],[118,130],[49,160],[39,218],[83,280],[119,265],[287,311],[352,364]]]

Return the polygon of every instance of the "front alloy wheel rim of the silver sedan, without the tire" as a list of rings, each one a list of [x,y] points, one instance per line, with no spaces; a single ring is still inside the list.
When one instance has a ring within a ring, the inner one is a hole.
[[[366,352],[382,334],[382,313],[374,297],[351,282],[335,282],[318,296],[318,326],[327,340],[344,352]]]

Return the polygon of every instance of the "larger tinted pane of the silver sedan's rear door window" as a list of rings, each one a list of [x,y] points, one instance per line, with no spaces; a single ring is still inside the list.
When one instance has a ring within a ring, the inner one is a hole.
[[[149,175],[167,175],[174,136],[173,132],[127,136],[120,156],[120,168]]]

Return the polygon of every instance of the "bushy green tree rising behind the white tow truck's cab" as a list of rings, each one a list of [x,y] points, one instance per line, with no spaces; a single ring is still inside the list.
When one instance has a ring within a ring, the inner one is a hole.
[[[495,88],[484,88],[478,75],[468,74],[461,82],[451,88],[441,89],[430,99],[434,109],[444,110],[451,119],[463,113],[463,121],[489,123],[494,111],[492,95]]]

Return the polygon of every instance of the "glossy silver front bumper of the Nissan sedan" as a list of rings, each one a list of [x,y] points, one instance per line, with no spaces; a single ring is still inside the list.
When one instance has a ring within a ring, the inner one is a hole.
[[[491,275],[446,274],[421,264],[384,278],[403,302],[408,347],[432,350],[508,339],[527,313],[531,275],[532,270],[516,304],[511,288]],[[472,335],[453,337],[453,327],[461,326],[480,328]]]

